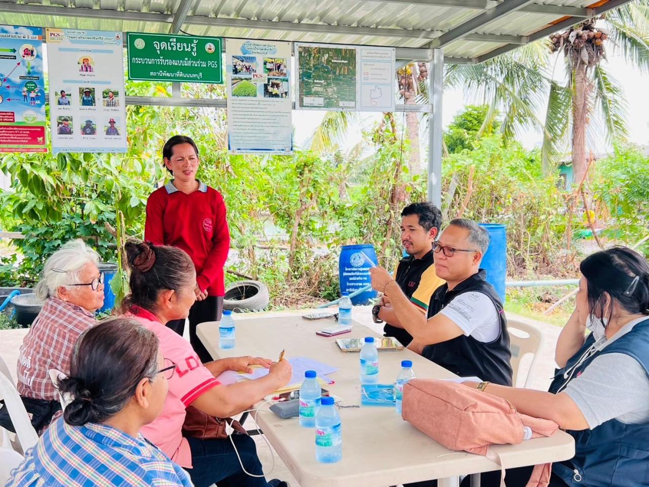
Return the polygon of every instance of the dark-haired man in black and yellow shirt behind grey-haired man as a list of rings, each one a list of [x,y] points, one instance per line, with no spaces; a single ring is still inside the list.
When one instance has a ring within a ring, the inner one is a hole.
[[[439,233],[442,214],[437,206],[424,201],[412,203],[401,212],[401,242],[408,257],[402,258],[395,271],[395,281],[413,306],[422,316],[428,311],[428,303],[433,292],[444,281],[435,274],[433,242]],[[374,316],[386,322],[385,336],[397,338],[408,346],[412,336],[404,330],[389,299],[384,295],[374,306]],[[376,320],[375,320],[376,321]]]

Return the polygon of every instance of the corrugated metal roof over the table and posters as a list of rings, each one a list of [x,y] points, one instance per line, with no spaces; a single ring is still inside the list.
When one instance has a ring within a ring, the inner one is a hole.
[[[445,34],[447,58],[479,62],[626,1],[0,0],[0,23],[169,32],[189,2],[191,34],[426,49]]]

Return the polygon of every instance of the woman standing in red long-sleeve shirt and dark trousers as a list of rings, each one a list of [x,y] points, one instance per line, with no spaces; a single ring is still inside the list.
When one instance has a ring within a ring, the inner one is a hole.
[[[162,158],[173,179],[149,196],[144,239],[154,245],[173,245],[190,255],[196,268],[190,343],[202,362],[209,362],[212,356],[196,336],[196,326],[221,320],[223,266],[230,249],[225,203],[217,190],[196,179],[199,150],[190,137],[175,135],[167,140]],[[167,327],[182,336],[185,320],[169,321]]]

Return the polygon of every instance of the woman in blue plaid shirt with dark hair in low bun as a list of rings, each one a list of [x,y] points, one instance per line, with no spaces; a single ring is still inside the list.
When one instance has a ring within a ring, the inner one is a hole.
[[[147,442],[140,428],[158,417],[175,364],[165,363],[156,335],[125,318],[84,332],[75,346],[71,395],[6,487],[191,487],[188,473]]]

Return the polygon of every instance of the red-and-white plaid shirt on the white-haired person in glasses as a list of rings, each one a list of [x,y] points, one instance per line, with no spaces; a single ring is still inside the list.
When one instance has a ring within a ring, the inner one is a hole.
[[[77,338],[96,323],[90,311],[56,297],[47,298],[20,347],[17,385],[20,395],[57,400],[49,369],[69,374]]]

